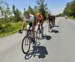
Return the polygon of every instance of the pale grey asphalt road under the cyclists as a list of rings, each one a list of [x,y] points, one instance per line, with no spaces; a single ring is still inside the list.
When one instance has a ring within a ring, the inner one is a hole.
[[[38,52],[35,54],[33,51],[28,55],[22,53],[24,35],[25,32],[0,38],[0,62],[75,62],[74,20],[56,18],[52,32],[48,32],[48,24],[44,23],[45,38],[39,40],[40,45],[36,47]]]

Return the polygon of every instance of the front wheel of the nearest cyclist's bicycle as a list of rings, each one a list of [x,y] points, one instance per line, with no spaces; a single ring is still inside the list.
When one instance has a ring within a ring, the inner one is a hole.
[[[22,52],[27,54],[30,50],[31,40],[30,37],[25,36],[22,40]]]

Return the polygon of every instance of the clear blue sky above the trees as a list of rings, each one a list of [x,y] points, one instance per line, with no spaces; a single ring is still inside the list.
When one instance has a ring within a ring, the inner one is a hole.
[[[71,0],[45,0],[47,3],[48,11],[50,11],[53,15],[57,15],[62,13],[66,4]],[[32,8],[37,5],[36,0],[6,0],[8,2],[9,7],[12,8],[12,5],[15,5],[20,11],[23,11],[24,8],[28,8],[31,6]]]

